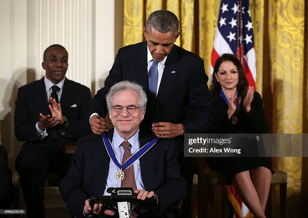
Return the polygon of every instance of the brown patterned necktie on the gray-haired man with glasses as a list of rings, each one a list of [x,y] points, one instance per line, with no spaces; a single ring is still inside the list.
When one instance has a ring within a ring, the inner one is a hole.
[[[124,148],[124,154],[122,159],[122,166],[124,165],[125,161],[132,156],[131,152],[129,151],[130,143],[128,141],[124,141],[121,143]],[[136,180],[135,180],[135,172],[134,172],[134,164],[129,166],[124,170],[124,179],[121,181],[121,187],[126,188],[133,188],[135,191],[137,189]],[[131,218],[136,218],[138,214],[135,211],[132,211]]]

